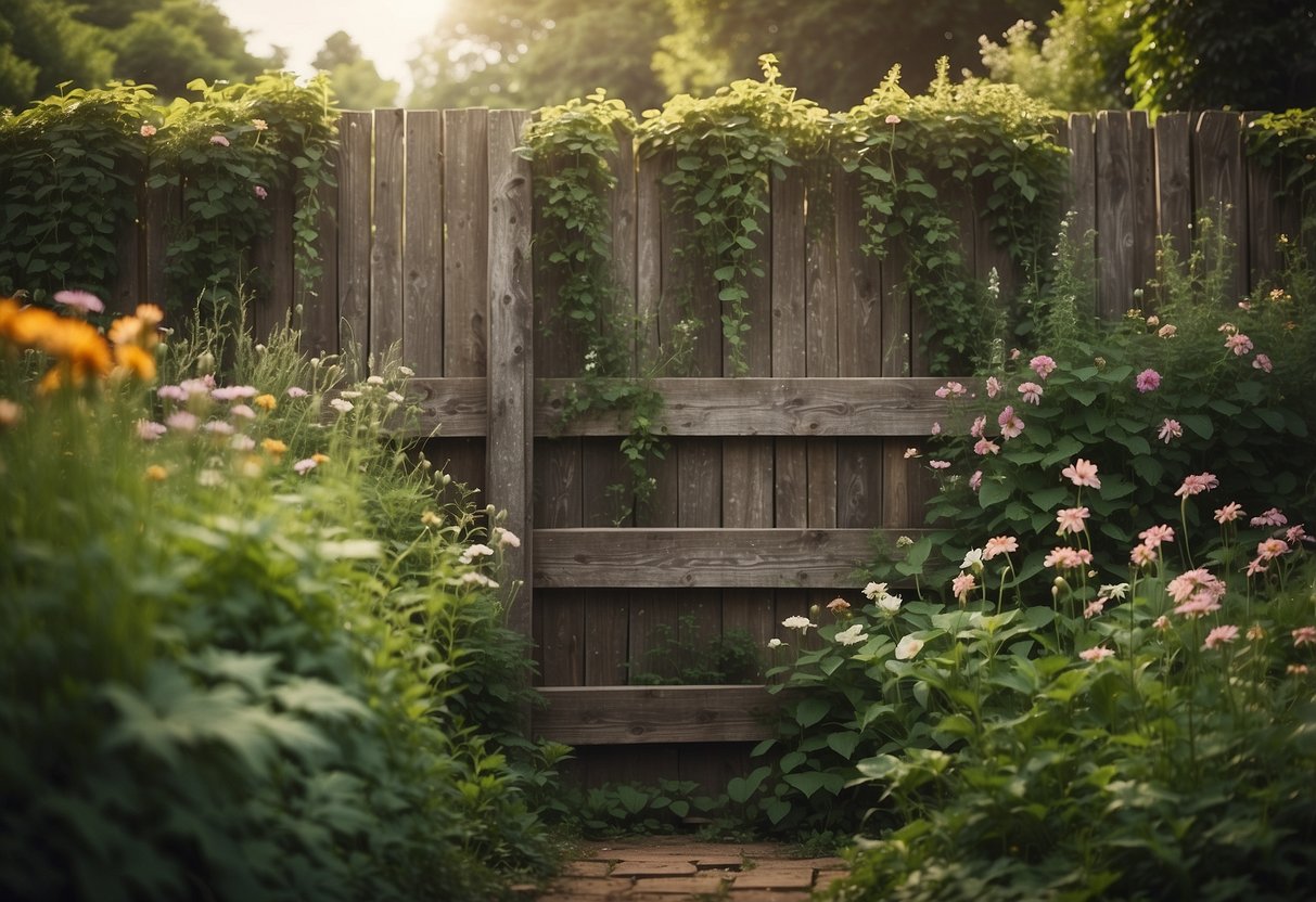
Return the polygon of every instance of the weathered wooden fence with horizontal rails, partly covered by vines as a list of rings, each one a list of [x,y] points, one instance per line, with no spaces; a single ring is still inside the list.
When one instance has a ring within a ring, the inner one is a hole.
[[[899,250],[861,250],[857,193],[840,172],[772,185],[751,284],[747,377],[729,377],[711,276],[674,254],[680,222],[663,160],[622,149],[612,197],[617,279],[644,323],[637,355],[667,342],[690,305],[711,323],[694,377],[662,379],[671,450],[638,511],[608,487],[625,479],[615,417],[558,431],[580,346],[554,327],[555,292],[537,266],[529,164],[513,149],[526,114],[384,109],[343,113],[336,216],[321,222],[324,276],[296,285],[286,221],[265,251],[274,292],[258,329],[291,317],[312,351],[397,343],[417,372],[433,459],[508,510],[525,581],[513,625],[536,640],[542,693],[533,730],[576,744],[591,782],[680,777],[715,785],[744,769],[763,732],[755,686],[641,686],[658,636],[683,642],[742,630],[765,650],[783,618],[841,594],[858,604],[873,530],[921,523],[928,490],[904,450],[938,413],[921,376],[920,313]],[[1073,116],[1074,229],[1096,231],[1099,312],[1117,316],[1155,271],[1155,237],[1186,251],[1199,212],[1234,241],[1233,291],[1277,267],[1274,239],[1296,210],[1274,201],[1271,172],[1241,149],[1246,117]],[[817,202],[820,197],[828,202]],[[809,202],[813,199],[815,202]],[[286,213],[286,210],[284,210]],[[979,277],[1009,272],[961,213]],[[692,277],[695,276],[695,277]],[[688,287],[694,284],[691,293]],[[717,746],[711,753],[709,743]],[[730,749],[729,752],[726,749]],[[620,752],[620,753],[619,753]]]

